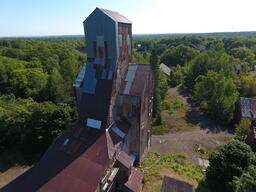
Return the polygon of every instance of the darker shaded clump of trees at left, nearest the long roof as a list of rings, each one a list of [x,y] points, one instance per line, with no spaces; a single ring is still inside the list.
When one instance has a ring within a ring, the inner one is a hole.
[[[15,146],[31,152],[46,149],[73,117],[74,110],[66,104],[1,96],[0,150]]]

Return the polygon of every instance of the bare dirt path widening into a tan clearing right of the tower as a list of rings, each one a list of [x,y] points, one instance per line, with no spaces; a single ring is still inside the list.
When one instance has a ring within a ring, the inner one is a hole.
[[[169,119],[170,123],[183,121],[182,129],[164,135],[153,135],[151,151],[186,153],[191,160],[199,163],[199,158],[206,159],[208,152],[233,138],[229,127],[208,120],[185,92],[180,92],[176,88],[171,88],[169,92],[182,98],[187,106],[186,112],[184,111],[186,114],[183,114],[185,118],[175,119],[170,116]]]

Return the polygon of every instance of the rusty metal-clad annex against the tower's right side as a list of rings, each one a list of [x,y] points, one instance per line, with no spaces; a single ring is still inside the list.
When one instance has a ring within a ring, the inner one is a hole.
[[[153,76],[150,66],[130,64],[126,79],[121,86],[119,113],[131,123],[127,148],[129,153],[134,153],[138,157],[138,161],[143,159],[149,147],[152,96]]]

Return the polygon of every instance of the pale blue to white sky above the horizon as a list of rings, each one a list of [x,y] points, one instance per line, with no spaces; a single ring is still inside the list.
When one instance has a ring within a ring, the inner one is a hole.
[[[133,34],[256,31],[255,0],[0,0],[0,37],[83,34],[96,8],[133,22]]]

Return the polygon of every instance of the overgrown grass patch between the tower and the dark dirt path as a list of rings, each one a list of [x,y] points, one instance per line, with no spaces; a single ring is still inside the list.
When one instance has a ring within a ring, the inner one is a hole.
[[[169,90],[161,103],[162,124],[153,126],[152,133],[163,135],[169,132],[191,130],[192,124],[187,121],[188,107],[185,101],[177,93]]]

